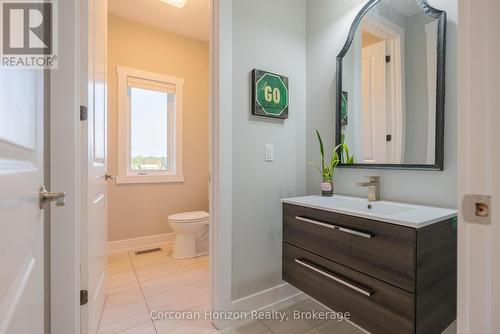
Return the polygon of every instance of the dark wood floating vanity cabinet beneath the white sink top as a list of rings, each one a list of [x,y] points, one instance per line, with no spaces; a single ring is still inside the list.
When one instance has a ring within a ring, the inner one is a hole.
[[[457,231],[283,203],[283,279],[372,333],[438,334],[456,318]]]

